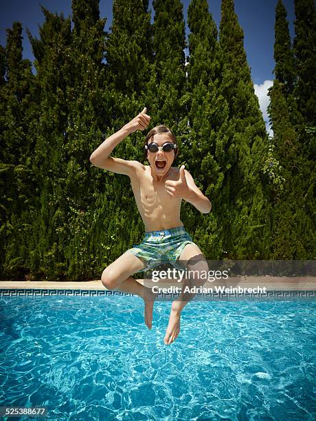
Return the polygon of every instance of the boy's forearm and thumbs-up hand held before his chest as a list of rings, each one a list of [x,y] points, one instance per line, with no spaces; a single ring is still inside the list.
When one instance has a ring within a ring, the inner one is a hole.
[[[212,209],[210,200],[196,186],[192,175],[184,169],[184,165],[181,166],[179,175],[177,181],[166,181],[166,191],[171,197],[181,197],[185,202],[189,202],[201,213],[209,213]]]

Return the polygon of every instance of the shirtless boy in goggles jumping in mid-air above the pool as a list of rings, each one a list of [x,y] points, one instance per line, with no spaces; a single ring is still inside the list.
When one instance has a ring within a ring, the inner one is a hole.
[[[148,132],[144,144],[148,165],[137,161],[126,161],[110,156],[113,149],[126,136],[136,130],[144,130],[150,122],[146,107],[122,129],[104,140],[91,154],[93,165],[113,173],[128,175],[146,234],[139,246],[127,250],[102,273],[102,283],[109,290],[120,290],[137,294],[144,299],[144,319],[148,329],[152,327],[155,294],[150,288],[135,281],[131,275],[150,267],[152,261],[185,261],[190,270],[196,262],[199,270],[208,270],[201,250],[180,220],[181,200],[190,202],[202,213],[209,213],[212,205],[194,184],[190,173],[172,165],[177,156],[177,139],[165,126],[158,126]],[[192,263],[192,262],[195,263]],[[204,283],[204,282],[203,282]],[[170,345],[180,332],[180,315],[192,294],[181,294],[180,301],[173,301],[164,343]]]

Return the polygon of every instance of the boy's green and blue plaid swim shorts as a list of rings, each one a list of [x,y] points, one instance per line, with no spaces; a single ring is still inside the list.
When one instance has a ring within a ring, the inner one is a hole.
[[[169,230],[148,231],[141,244],[130,248],[135,256],[142,259],[145,267],[138,272],[144,272],[155,268],[161,263],[177,265],[176,261],[187,244],[196,244],[183,226],[170,228]]]

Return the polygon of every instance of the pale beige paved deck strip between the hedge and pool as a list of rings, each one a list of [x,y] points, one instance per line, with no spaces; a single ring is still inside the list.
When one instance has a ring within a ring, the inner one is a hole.
[[[143,283],[142,279],[137,279]],[[169,287],[179,285],[175,281],[166,279],[153,283]],[[267,288],[268,291],[316,291],[316,277],[234,277],[227,281],[215,281],[205,283],[205,286],[224,286],[226,288],[256,288],[258,286]],[[106,290],[100,279],[93,281],[0,281],[0,289],[45,289],[45,290]]]

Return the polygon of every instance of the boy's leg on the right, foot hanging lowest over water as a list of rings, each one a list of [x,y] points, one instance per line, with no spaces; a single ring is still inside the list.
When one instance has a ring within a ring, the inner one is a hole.
[[[199,274],[203,273],[203,271],[208,272],[207,261],[199,247],[195,244],[188,244],[185,246],[179,260],[181,261],[181,264],[185,264],[187,272],[191,272],[192,276],[189,277],[189,279],[185,279],[179,299],[172,302],[169,323],[164,338],[164,343],[166,345],[170,345],[170,343],[179,336],[181,311],[195,295],[189,292],[184,293],[185,287],[189,286],[192,288],[194,285],[196,287],[201,287],[204,285],[206,279],[201,279]]]

